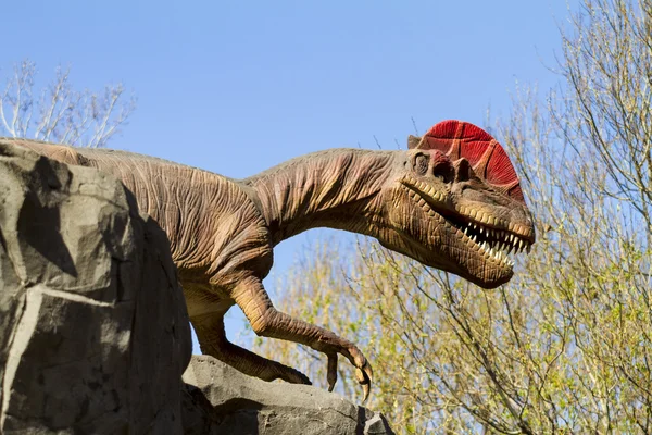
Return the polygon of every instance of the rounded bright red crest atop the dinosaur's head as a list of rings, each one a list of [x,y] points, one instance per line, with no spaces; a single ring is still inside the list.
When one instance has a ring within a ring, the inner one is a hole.
[[[482,128],[462,121],[442,121],[410,148],[436,149],[451,160],[466,159],[476,175],[494,189],[524,202],[516,171],[503,147]]]

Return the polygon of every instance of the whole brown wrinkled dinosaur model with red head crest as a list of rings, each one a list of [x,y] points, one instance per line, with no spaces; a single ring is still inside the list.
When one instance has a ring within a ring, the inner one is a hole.
[[[277,311],[262,281],[281,240],[326,226],[375,237],[423,264],[493,288],[513,275],[511,250],[535,241],[532,219],[503,148],[475,125],[446,121],[403,151],[333,149],[247,179],[131,152],[1,139],[120,178],[165,229],[201,350],[265,381],[310,384],[297,370],[229,343],[224,314],[238,304],[261,336],[300,343],[355,368],[366,400],[372,368],[330,331]]]

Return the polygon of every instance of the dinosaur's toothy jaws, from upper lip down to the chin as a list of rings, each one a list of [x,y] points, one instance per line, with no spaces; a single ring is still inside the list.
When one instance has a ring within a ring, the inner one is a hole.
[[[497,287],[513,275],[512,251],[529,250],[534,243],[534,231],[525,222],[507,221],[487,208],[453,206],[444,194],[417,179],[404,179],[402,188],[409,201],[436,223],[436,234],[430,235],[435,243],[428,244],[438,257],[427,261],[432,266],[486,288]]]

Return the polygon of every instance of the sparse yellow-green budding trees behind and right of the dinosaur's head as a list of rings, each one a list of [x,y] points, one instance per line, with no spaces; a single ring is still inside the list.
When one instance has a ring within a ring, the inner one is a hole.
[[[361,239],[313,247],[279,284],[283,310],[361,346],[368,406],[400,432],[652,432],[652,3],[585,0],[569,23],[559,88],[517,88],[493,132],[538,225],[512,282],[484,290]],[[324,386],[317,353],[258,346]]]

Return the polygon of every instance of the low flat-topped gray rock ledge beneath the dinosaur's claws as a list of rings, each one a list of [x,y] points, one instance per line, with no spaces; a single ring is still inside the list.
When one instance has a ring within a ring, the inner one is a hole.
[[[184,373],[186,434],[393,434],[381,414],[308,385],[267,383],[209,356]]]

